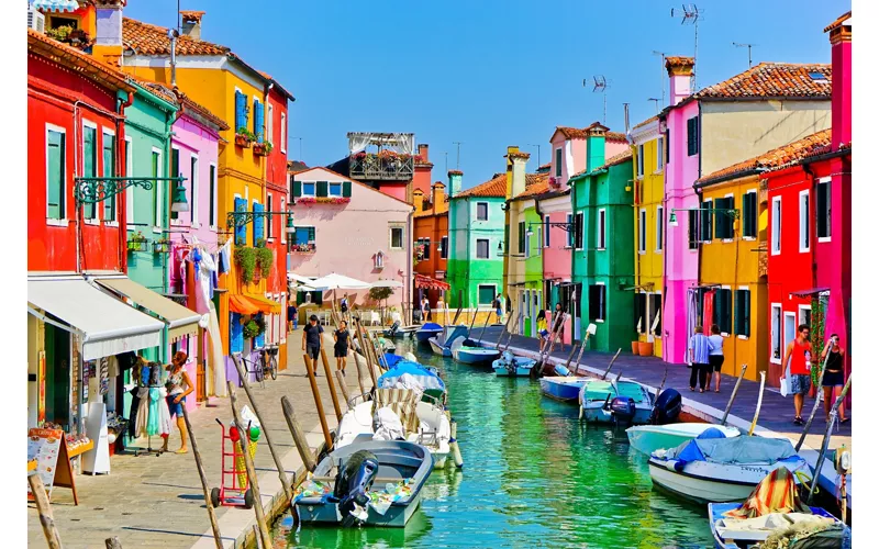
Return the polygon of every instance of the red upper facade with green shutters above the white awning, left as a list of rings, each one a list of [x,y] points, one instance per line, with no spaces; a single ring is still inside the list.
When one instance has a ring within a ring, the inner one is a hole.
[[[27,30],[29,271],[126,270],[124,192],[99,204],[99,222],[86,222],[74,178],[92,166],[98,176],[124,175],[133,92],[122,72]]]

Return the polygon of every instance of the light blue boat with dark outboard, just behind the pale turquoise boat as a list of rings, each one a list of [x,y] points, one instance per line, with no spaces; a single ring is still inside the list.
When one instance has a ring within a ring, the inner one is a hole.
[[[591,379],[583,383],[578,399],[587,422],[644,425],[653,413],[653,395],[634,381]]]

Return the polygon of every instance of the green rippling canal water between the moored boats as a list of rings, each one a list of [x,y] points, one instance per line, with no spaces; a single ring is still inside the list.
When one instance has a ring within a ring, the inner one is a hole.
[[[625,432],[580,424],[528,379],[497,378],[398,343],[449,389],[464,468],[434,471],[405,528],[287,531],[288,547],[712,547],[705,512],[657,492]],[[289,520],[289,516],[288,516]]]

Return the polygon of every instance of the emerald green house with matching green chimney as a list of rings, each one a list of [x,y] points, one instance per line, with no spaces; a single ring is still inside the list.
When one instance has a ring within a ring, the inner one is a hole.
[[[635,336],[634,231],[632,226],[632,152],[605,160],[608,128],[592,124],[587,137],[586,169],[570,180],[574,204],[571,279],[579,307],[575,326],[583,336],[586,326],[597,325],[590,348],[626,348]]]

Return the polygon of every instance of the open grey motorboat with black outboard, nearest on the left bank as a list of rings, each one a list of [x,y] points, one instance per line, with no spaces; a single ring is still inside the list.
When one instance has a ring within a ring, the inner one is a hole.
[[[300,486],[297,512],[302,524],[351,526],[359,522],[402,528],[421,505],[421,489],[432,470],[427,448],[409,441],[336,448]]]

